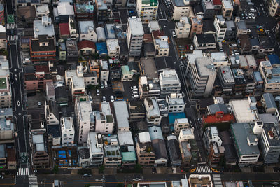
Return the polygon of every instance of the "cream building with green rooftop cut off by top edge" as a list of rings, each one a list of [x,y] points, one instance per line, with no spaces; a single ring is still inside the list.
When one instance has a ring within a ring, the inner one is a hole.
[[[158,14],[158,0],[137,0],[137,13],[141,20],[155,20]]]

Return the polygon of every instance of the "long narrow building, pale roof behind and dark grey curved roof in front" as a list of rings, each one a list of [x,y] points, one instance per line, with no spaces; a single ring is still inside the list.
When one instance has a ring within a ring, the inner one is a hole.
[[[149,127],[153,150],[155,151],[155,167],[166,166],[168,161],[167,150],[165,147],[165,139],[162,136],[160,127]]]

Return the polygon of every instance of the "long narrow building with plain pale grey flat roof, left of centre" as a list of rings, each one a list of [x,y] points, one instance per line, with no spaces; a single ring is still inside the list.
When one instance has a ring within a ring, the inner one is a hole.
[[[127,109],[127,103],[125,101],[115,101],[113,102],[113,106],[116,113],[116,122],[118,125],[118,132],[119,131],[130,131],[130,123],[129,118],[130,115]]]

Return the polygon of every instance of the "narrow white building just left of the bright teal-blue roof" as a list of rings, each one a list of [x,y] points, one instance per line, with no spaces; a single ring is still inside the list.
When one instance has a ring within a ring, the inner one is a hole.
[[[144,105],[146,109],[146,121],[149,125],[160,125],[162,116],[160,115],[160,109],[158,102],[155,98],[145,98]]]

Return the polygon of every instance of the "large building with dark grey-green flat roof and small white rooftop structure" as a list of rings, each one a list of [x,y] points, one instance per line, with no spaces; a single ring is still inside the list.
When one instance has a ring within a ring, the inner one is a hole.
[[[260,156],[258,137],[253,134],[251,125],[249,123],[232,123],[230,130],[239,158],[238,165],[244,167],[258,162]]]

